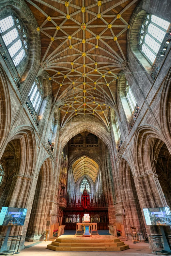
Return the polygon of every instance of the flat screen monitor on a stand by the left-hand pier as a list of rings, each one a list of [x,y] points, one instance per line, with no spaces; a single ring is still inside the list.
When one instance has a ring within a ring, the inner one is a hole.
[[[0,212],[0,226],[23,226],[27,209],[2,207]]]

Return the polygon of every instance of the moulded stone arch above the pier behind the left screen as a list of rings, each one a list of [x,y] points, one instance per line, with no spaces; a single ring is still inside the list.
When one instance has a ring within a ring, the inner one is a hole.
[[[15,128],[10,134],[8,142],[14,139],[19,139],[21,148],[21,160],[18,173],[33,177],[36,165],[36,140],[33,128],[29,126]]]

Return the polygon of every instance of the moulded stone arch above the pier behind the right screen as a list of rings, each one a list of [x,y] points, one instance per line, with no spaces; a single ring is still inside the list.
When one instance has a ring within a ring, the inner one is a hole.
[[[154,139],[163,141],[169,149],[163,134],[155,127],[145,125],[137,129],[134,140],[135,176],[155,174],[152,152]]]

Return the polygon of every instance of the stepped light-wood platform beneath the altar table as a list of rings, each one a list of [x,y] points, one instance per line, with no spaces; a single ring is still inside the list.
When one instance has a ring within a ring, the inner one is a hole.
[[[123,251],[129,249],[129,246],[111,235],[93,235],[92,237],[62,235],[49,244],[47,249],[54,251]]]

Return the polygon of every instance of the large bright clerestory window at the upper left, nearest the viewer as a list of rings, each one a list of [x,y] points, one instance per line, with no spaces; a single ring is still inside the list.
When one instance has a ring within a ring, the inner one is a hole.
[[[19,18],[10,15],[0,20],[0,33],[17,67],[28,53],[27,30]]]

